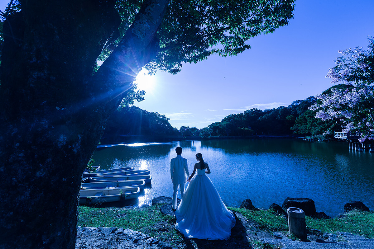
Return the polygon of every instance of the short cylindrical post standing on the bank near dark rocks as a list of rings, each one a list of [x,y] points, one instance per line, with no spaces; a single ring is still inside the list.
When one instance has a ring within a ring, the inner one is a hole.
[[[300,208],[288,208],[288,231],[301,240],[306,240],[305,213]]]

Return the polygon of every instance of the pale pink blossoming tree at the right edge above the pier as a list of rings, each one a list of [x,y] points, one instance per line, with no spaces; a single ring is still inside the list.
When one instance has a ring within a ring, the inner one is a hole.
[[[309,108],[318,110],[315,117],[323,121],[342,121],[343,132],[360,132],[360,142],[374,138],[374,37],[368,41],[368,50],[356,47],[338,51],[337,65],[326,77],[345,87],[329,88],[316,96],[317,102]]]

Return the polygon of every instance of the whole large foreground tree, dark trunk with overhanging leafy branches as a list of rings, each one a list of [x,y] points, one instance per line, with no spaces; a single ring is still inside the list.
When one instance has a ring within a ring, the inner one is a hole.
[[[233,56],[294,0],[19,0],[3,16],[0,248],[74,248],[81,175],[138,71]],[[100,68],[97,60],[105,61]]]

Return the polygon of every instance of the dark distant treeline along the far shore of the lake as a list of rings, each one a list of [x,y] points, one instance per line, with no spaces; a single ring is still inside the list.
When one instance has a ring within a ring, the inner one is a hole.
[[[334,87],[339,87],[339,85]],[[209,136],[291,134],[308,136],[323,134],[328,128],[341,130],[339,121],[322,121],[315,118],[316,111],[308,109],[315,102],[315,97],[309,97],[305,100],[296,100],[287,107],[279,106],[265,111],[254,108],[243,113],[230,114],[221,122],[215,122],[202,129],[182,126],[179,130],[171,126],[169,118],[158,112],[147,112],[137,106],[120,106],[108,119],[104,137],[141,135],[206,138]]]

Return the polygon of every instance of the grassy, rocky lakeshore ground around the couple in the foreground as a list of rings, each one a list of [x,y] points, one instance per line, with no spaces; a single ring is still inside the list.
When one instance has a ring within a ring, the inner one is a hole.
[[[367,243],[365,245],[374,246],[374,228],[372,226],[374,213],[363,211],[347,212],[344,217],[333,219],[306,217],[307,240],[303,242],[293,234],[288,233],[288,221],[284,215],[280,215],[275,209],[255,210],[229,207],[236,215],[237,221],[229,240],[186,239],[174,227],[175,217],[171,211],[171,203],[165,203],[169,202],[169,199],[171,197],[157,197],[153,199],[152,206],[142,207],[93,208],[80,206],[78,224],[81,227],[80,229],[84,228],[85,231],[97,232],[98,236],[92,238],[90,233],[77,238],[77,240],[80,240],[79,245],[82,246],[79,249],[85,248],[85,245],[91,245],[89,242],[105,244],[105,249],[116,248],[119,243],[125,240],[125,238],[118,236],[132,234],[130,237],[134,238],[133,236],[139,233],[143,234],[141,237],[145,240],[152,238],[153,247],[150,246],[150,248],[162,247],[165,249],[264,249],[279,248],[277,247],[279,245],[296,246],[291,248],[304,248],[302,245],[315,245],[318,248],[324,248],[326,245],[326,248],[329,248],[329,243],[340,244],[339,248],[351,248],[352,243],[358,242],[359,244],[354,245]],[[171,213],[168,213],[169,209]],[[111,231],[110,234],[108,233],[110,237],[102,237],[101,232],[105,229]],[[88,240],[89,242],[85,244],[85,241],[82,242],[82,240]],[[105,243],[103,243],[104,240]],[[138,240],[136,243],[138,243]],[[155,245],[158,243],[160,245]],[[131,246],[131,248],[148,247],[144,247],[143,243],[141,246]]]

